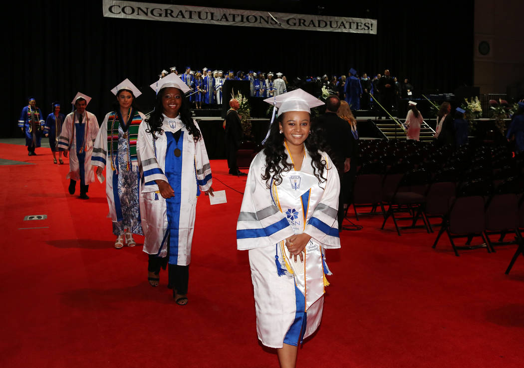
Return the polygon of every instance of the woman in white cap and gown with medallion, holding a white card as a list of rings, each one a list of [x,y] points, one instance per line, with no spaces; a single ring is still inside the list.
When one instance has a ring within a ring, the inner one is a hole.
[[[158,286],[160,269],[167,264],[168,287],[175,302],[185,305],[196,198],[200,192],[213,195],[211,167],[184,97],[190,88],[174,73],[151,88],[158,89],[155,108],[140,124],[137,145],[144,178],[140,214],[144,252],[149,254],[148,281]]]

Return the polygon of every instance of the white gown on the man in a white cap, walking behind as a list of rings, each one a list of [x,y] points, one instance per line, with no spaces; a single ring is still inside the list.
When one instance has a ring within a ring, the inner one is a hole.
[[[66,179],[75,181],[80,180],[80,165],[77,156],[77,129],[74,129],[74,124],[78,122],[77,114],[75,112],[68,114],[62,125],[62,131],[58,138],[57,148],[69,151],[69,173]],[[85,132],[85,160],[84,160],[84,181],[85,185],[95,181],[95,175],[91,168],[91,155],[93,153],[93,144],[96,135],[99,131],[98,120],[96,116],[89,111],[84,111],[82,124],[87,124],[84,128]]]

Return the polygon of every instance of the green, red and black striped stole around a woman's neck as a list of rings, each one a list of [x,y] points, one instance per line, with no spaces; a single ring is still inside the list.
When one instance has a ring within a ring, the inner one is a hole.
[[[138,138],[138,126],[142,122],[142,118],[138,111],[132,109],[130,111],[130,117],[127,120],[128,128],[124,132],[123,137],[127,139],[129,144],[129,152],[127,152],[127,170],[130,170],[129,164],[137,165],[138,160],[136,157],[136,140]],[[107,119],[107,153],[111,156],[112,169],[115,170],[115,161],[118,159],[118,127],[120,126],[120,120],[116,111],[112,111]]]

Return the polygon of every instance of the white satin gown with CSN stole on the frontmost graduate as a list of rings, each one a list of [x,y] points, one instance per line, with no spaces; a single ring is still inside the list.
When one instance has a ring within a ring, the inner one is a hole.
[[[237,222],[237,249],[249,250],[257,334],[268,347],[282,347],[293,329],[296,316],[304,309],[307,323],[302,327],[303,338],[310,336],[320,325],[323,273],[329,274],[327,266],[323,269],[321,248],[340,248],[336,220],[339,175],[329,156],[321,154],[329,168],[324,171],[327,181],[322,184],[313,175],[308,154],[300,171],[283,173],[282,183],[272,189],[267,188],[266,181],[260,178],[265,167],[263,152],[256,155],[249,168]],[[306,246],[305,272],[295,272],[293,276],[287,270],[285,275],[279,276],[275,256],[278,255],[280,267],[287,269],[289,260],[283,242],[301,232],[312,237]],[[302,306],[299,299],[305,299]],[[294,343],[298,342],[299,336],[295,338]]]

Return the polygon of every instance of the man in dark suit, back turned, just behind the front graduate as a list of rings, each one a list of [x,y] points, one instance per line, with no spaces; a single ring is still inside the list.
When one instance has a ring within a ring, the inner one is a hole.
[[[339,231],[342,229],[344,219],[344,188],[342,178],[344,173],[350,170],[351,152],[353,151],[353,140],[351,139],[351,128],[348,122],[336,115],[340,107],[340,98],[331,95],[326,99],[326,112],[316,120],[316,126],[322,130],[322,137],[328,143],[331,159],[339,171],[341,181],[339,196]]]

